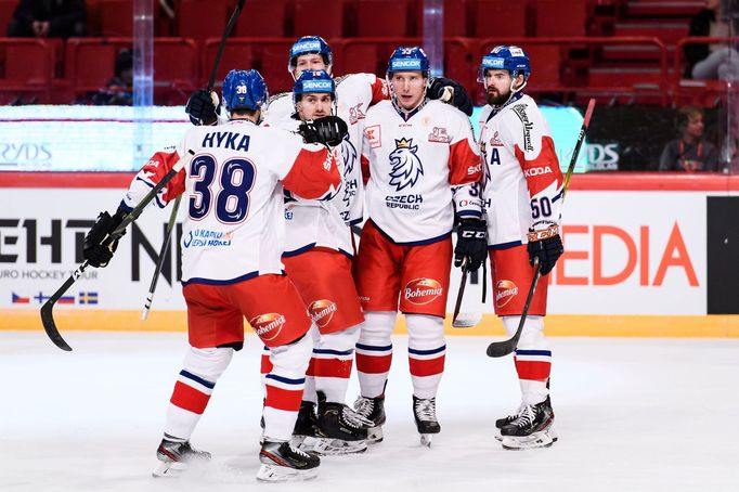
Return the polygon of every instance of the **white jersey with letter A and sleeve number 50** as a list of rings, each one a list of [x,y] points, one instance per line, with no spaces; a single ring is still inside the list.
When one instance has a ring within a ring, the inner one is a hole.
[[[562,173],[536,103],[523,94],[496,114],[483,107],[479,143],[489,246],[526,244],[530,229],[559,224]]]

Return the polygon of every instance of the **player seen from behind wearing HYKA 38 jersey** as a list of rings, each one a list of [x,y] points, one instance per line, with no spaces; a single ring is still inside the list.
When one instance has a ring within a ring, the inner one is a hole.
[[[233,352],[243,347],[246,318],[272,349],[257,478],[311,478],[319,457],[289,443],[313,344],[302,299],[282,272],[283,186],[320,198],[336,192],[340,174],[326,146],[307,145],[296,134],[257,125],[268,100],[258,72],[232,70],[222,91],[230,121],[192,128],[176,151],[155,154],[132,181],[118,212],[100,215],[86,237],[85,258],[94,267],[106,266],[113,253],[102,241],[180,156],[194,153],[155,200],[165,206],[186,195],[182,292],[191,349],[170,399],[154,475],[174,476],[194,461],[210,458],[191,446],[190,437]],[[313,128],[320,127],[315,121]]]

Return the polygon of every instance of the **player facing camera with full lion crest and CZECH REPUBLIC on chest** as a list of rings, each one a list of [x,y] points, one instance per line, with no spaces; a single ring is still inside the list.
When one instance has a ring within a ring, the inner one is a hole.
[[[413,413],[424,444],[441,430],[436,396],[446,349],[455,208],[462,222],[455,263],[476,270],[487,256],[471,126],[461,111],[427,98],[428,76],[420,48],[398,48],[387,70],[392,100],[367,112],[362,165],[368,220],[355,267],[365,315],[356,344],[361,397],[355,407],[374,422],[372,439],[380,440],[390,337],[400,308],[409,331]]]

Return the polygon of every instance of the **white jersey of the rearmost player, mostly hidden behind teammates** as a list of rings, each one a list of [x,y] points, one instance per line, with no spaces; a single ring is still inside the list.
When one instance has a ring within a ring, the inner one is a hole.
[[[385,80],[373,74],[351,74],[336,79],[337,116],[349,127],[348,145],[341,145],[343,185],[336,203],[343,221],[351,225],[362,222],[364,189],[361,181],[360,156],[364,118],[367,108],[389,98]],[[295,113],[293,93],[277,94],[270,100],[264,122],[282,127]]]

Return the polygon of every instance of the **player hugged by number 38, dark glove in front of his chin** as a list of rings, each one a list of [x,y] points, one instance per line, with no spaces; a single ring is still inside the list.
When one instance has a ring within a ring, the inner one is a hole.
[[[335,113],[334,79],[324,70],[303,70],[295,82],[293,103],[295,113],[273,125],[300,131],[310,140],[310,132],[304,130],[310,121]],[[361,183],[359,159],[349,139],[329,144],[335,145],[341,185]],[[345,404],[354,345],[364,321],[352,279],[353,246],[351,230],[341,216],[345,211],[349,208],[341,190],[330,200],[293,195],[285,199],[287,238],[283,262],[315,323],[308,372],[312,377],[306,380],[295,435],[301,449],[311,449],[313,444],[312,449],[320,454],[366,451],[366,427],[371,425]],[[267,374],[269,350],[262,362],[262,373]]]

